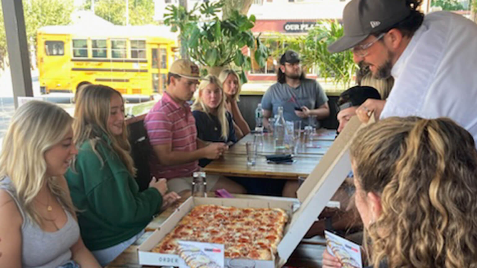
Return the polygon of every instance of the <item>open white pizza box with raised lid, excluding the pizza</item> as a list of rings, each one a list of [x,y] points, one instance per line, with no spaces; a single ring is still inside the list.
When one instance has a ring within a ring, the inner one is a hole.
[[[141,265],[178,266],[177,255],[150,252],[176,224],[197,205],[214,204],[237,208],[283,208],[290,216],[285,226],[284,235],[278,245],[278,256],[271,261],[257,261],[256,268],[280,268],[290,258],[291,253],[305,236],[308,229],[327,206],[328,201],[340,187],[351,171],[349,147],[353,136],[361,127],[357,117],[352,117],[345,129],[338,135],[332,146],[321,158],[317,166],[297,191],[299,207],[294,209],[295,202],[287,198],[254,197],[241,195],[240,198],[189,198],[138,248]],[[247,197],[247,198],[241,198]],[[226,259],[226,264],[228,259]]]

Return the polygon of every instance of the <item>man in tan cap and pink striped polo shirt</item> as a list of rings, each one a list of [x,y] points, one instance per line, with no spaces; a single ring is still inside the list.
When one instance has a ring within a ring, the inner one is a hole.
[[[170,191],[190,195],[192,173],[199,169],[198,159],[218,159],[228,149],[225,143],[197,139],[196,121],[187,100],[192,99],[198,84],[199,68],[189,60],[176,60],[167,74],[167,92],[144,119],[153,147],[151,173],[166,178]],[[225,177],[207,175],[210,190],[225,188],[243,193],[245,189]]]

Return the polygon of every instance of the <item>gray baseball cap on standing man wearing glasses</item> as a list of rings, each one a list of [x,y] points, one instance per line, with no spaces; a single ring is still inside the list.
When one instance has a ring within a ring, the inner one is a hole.
[[[370,34],[404,20],[410,13],[406,0],[352,0],[343,10],[344,36],[329,45],[328,51],[349,50]]]

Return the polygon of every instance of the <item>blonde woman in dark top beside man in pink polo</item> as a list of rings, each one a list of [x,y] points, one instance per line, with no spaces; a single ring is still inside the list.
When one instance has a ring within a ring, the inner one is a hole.
[[[237,142],[232,116],[225,107],[222,83],[214,75],[207,75],[199,84],[197,96],[192,104],[192,114],[196,119],[197,138],[210,142]],[[205,167],[210,159],[200,159]]]

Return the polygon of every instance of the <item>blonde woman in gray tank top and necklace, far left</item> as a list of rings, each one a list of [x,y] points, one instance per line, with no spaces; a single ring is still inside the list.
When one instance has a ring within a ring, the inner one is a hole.
[[[0,267],[100,267],[83,244],[63,177],[78,152],[72,122],[36,100],[11,119],[0,153]]]

